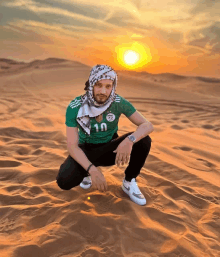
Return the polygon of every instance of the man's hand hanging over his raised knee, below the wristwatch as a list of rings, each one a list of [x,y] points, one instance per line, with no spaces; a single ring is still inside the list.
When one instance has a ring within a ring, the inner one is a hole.
[[[116,159],[115,159],[115,164],[117,166],[128,164],[130,161],[130,155],[132,151],[133,143],[128,139],[125,138],[116,148],[114,153],[117,153]]]

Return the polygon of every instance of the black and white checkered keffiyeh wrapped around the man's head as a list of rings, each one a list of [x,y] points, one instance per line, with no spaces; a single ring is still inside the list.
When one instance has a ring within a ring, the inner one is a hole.
[[[99,104],[94,99],[93,87],[97,81],[102,79],[111,79],[113,81],[113,88],[106,102]],[[89,88],[87,92],[81,96],[82,105],[77,115],[77,122],[89,136],[91,130],[90,118],[99,116],[111,106],[116,98],[117,82],[117,74],[110,66],[98,64],[91,69],[89,76]]]

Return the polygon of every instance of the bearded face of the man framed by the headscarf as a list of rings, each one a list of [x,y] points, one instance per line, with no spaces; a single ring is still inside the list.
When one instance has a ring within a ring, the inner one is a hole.
[[[96,82],[93,87],[93,96],[97,103],[103,104],[108,100],[113,88],[111,79],[102,79]]]

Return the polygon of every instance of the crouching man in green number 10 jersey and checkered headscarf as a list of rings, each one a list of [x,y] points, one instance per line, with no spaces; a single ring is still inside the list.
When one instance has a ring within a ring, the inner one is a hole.
[[[116,72],[108,65],[96,65],[86,82],[86,93],[68,105],[65,124],[69,156],[60,166],[57,184],[64,190],[94,185],[106,191],[106,180],[98,166],[128,164],[122,189],[132,201],[144,205],[146,199],[136,177],[149,154],[148,134],[154,129],[129,101],[116,94],[116,87]],[[122,113],[138,128],[119,137],[118,120]]]

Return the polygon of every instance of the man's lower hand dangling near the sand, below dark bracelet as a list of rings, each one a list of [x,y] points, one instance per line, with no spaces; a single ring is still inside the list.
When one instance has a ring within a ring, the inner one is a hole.
[[[107,191],[108,188],[105,177],[98,167],[92,165],[89,169],[89,174],[91,175],[92,185],[94,185],[96,189],[102,192]]]

